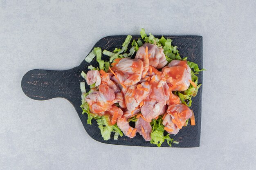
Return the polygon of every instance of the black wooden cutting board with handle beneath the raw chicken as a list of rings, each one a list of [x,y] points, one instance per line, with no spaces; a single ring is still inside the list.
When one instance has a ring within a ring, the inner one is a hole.
[[[140,36],[132,36],[132,39],[137,40]],[[161,36],[155,36],[160,38]],[[165,38],[171,38],[172,44],[176,45],[180,51],[181,57],[188,57],[188,61],[195,62],[199,68],[203,68],[202,58],[202,37],[201,36],[164,36]],[[108,36],[99,40],[94,47],[101,47],[108,51],[113,51],[116,47],[121,48],[126,39],[126,35]],[[93,48],[94,48],[93,47]],[[92,49],[93,49],[92,48]],[[75,57],[75,56],[74,56]],[[108,60],[109,57],[103,55],[103,60]],[[70,60],[73,60],[70,58]],[[81,105],[81,91],[80,82],[85,81],[80,75],[81,71],[89,71],[88,66],[98,66],[96,57],[91,63],[82,61],[82,63],[70,70],[65,71],[52,71],[52,70],[31,70],[27,72],[21,81],[22,91],[31,99],[35,100],[48,100],[54,97],[63,97],[67,99],[76,109],[82,124],[86,132],[95,140],[106,144],[117,145],[129,145],[129,146],[153,146],[149,141],[145,141],[139,133],[130,139],[125,135],[119,137],[118,140],[113,139],[113,135],[110,140],[104,141],[101,137],[100,130],[95,120],[92,121],[92,125],[87,124],[87,114],[82,115]],[[198,75],[198,83],[202,83],[202,72]],[[85,83],[86,84],[86,83]],[[86,91],[89,91],[89,86],[86,85]],[[170,135],[179,144],[173,144],[173,147],[189,148],[200,146],[200,128],[201,128],[201,101],[202,101],[202,86],[199,88],[198,95],[192,98],[191,109],[195,113],[195,126],[191,126],[190,122],[188,126],[182,128],[177,135]],[[56,122],[58,123],[58,122]],[[161,147],[169,147],[166,141]]]

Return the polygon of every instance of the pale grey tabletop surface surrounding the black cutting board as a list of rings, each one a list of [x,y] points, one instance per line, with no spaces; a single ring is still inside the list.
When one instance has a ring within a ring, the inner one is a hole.
[[[34,68],[77,66],[107,35],[202,35],[204,89],[199,148],[94,141],[65,99],[35,101],[20,87]],[[1,0],[0,169],[254,170],[254,0]]]

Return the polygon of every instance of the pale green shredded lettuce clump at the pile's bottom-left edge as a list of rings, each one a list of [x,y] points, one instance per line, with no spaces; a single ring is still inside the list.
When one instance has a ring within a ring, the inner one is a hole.
[[[108,116],[101,116],[100,119],[97,119],[97,124],[101,130],[101,135],[105,141],[110,139],[111,132],[115,132],[115,138],[118,138],[118,135],[123,136],[122,131],[117,127],[117,125],[109,125],[110,119]]]

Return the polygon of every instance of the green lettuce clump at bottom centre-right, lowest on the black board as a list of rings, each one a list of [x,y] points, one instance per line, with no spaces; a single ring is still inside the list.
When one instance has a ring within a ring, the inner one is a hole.
[[[157,120],[153,119],[150,122],[150,125],[152,127],[152,132],[151,132],[151,140],[150,144],[155,144],[158,147],[160,147],[164,141],[166,140],[167,144],[171,147],[171,143],[173,141],[172,138],[170,138],[170,134],[167,134],[164,136],[164,125],[162,124],[163,120],[162,117],[159,116]]]

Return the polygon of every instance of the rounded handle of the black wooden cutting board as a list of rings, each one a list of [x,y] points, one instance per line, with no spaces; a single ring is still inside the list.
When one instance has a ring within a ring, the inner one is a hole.
[[[31,99],[48,100],[55,97],[72,99],[72,89],[79,88],[82,78],[76,68],[65,71],[31,70],[21,80],[22,91]],[[70,100],[71,101],[71,100]]]

